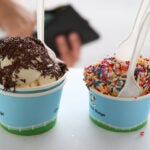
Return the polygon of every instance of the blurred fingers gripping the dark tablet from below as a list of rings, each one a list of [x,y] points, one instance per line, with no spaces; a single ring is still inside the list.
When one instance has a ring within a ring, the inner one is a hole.
[[[76,32],[71,32],[68,35],[68,39],[64,35],[58,35],[55,40],[60,59],[68,67],[72,67],[78,61],[80,55],[81,40],[79,35]]]

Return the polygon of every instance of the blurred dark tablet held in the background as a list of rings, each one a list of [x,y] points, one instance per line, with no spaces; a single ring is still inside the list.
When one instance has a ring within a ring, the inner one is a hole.
[[[100,37],[98,33],[70,5],[61,6],[45,12],[45,43],[59,56],[55,45],[55,37],[77,32],[82,44],[89,43]],[[37,33],[34,33],[36,36]]]

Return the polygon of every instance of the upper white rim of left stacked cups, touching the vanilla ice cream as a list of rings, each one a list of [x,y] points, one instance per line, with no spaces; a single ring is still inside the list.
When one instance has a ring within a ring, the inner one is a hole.
[[[54,81],[54,82],[51,82],[49,84],[44,84],[42,86],[34,86],[34,87],[30,87],[30,88],[16,88],[15,90],[16,91],[20,91],[20,92],[26,92],[26,91],[36,91],[36,90],[44,90],[44,89],[47,89],[47,88],[50,88],[52,86],[55,86],[57,85],[58,83],[62,82],[63,80],[65,80],[67,76],[67,72],[61,77],[59,78],[58,80]],[[2,88],[3,86],[0,85],[0,88]]]

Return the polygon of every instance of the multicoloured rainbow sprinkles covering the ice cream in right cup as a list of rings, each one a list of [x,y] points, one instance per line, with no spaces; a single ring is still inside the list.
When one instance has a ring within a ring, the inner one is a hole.
[[[115,57],[105,58],[84,69],[84,81],[88,88],[111,96],[118,96],[123,88],[129,61],[117,61]],[[135,69],[135,80],[143,89],[141,95],[150,93],[150,58],[139,57]]]

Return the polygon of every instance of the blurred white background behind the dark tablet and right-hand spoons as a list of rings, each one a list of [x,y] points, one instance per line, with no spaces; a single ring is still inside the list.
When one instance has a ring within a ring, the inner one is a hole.
[[[21,0],[36,8],[36,0]],[[118,45],[131,31],[141,0],[45,0],[45,8],[72,4],[101,34],[101,39],[82,47],[80,60],[75,67],[96,63],[107,55],[113,55]],[[150,39],[149,37],[147,39]],[[150,40],[145,44],[144,54],[150,56]]]

